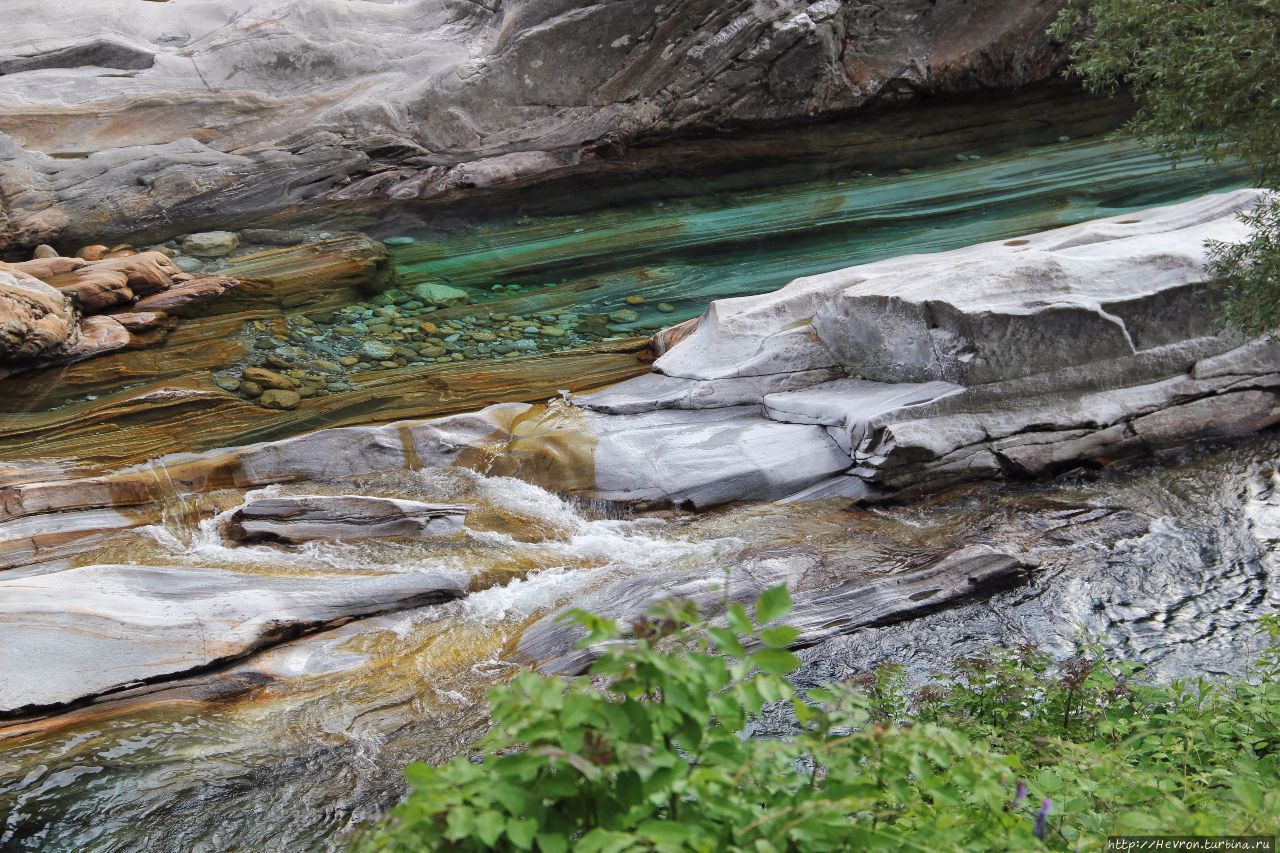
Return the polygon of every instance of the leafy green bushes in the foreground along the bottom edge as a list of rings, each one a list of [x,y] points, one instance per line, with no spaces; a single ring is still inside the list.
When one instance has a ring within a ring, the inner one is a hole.
[[[1254,681],[1134,680],[1082,644],[959,661],[914,697],[882,666],[796,694],[797,633],[767,592],[707,628],[668,605],[603,646],[590,678],[490,694],[479,762],[413,765],[369,849],[1097,849],[1108,833],[1274,833],[1280,622]],[[748,738],[765,706],[791,733]],[[1046,799],[1047,798],[1047,799]],[[1050,802],[1051,800],[1051,802]]]

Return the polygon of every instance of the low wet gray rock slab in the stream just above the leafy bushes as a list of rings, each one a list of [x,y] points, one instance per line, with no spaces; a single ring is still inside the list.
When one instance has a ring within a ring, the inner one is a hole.
[[[796,592],[813,571],[813,561],[805,555],[765,560],[748,571],[731,573],[727,583],[724,574],[627,578],[575,606],[626,624],[646,615],[660,601],[685,599],[714,622],[723,615],[726,602],[750,605],[768,587],[786,584],[792,589],[794,610],[783,621],[800,629],[795,646],[803,647],[991,594],[1025,581],[1034,566],[1018,555],[968,546],[914,571]],[[517,652],[544,672],[577,675],[602,649],[576,648],[584,633],[561,621],[562,616],[563,612],[552,613],[529,626]]]

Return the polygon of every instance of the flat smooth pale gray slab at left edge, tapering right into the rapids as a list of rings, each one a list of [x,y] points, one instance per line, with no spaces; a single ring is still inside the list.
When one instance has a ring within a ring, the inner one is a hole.
[[[466,594],[460,573],[269,576],[101,565],[0,580],[0,716],[236,660],[291,637]]]

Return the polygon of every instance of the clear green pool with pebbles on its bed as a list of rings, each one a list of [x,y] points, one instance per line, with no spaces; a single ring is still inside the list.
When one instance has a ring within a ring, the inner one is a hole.
[[[808,181],[575,215],[447,223],[385,237],[401,283],[369,301],[291,321],[256,362],[323,361],[337,373],[518,359],[621,339],[842,266],[934,252],[1243,186],[1231,165],[1167,160],[1092,138],[963,155],[872,174],[814,167]],[[448,231],[447,231],[448,229]],[[266,365],[271,366],[271,365]],[[333,368],[342,368],[334,370]],[[321,377],[315,378],[320,387]]]

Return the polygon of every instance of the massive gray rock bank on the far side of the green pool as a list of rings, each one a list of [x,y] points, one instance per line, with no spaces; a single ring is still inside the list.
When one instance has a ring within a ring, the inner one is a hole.
[[[640,140],[1011,88],[1059,67],[1060,5],[19,0],[0,248],[518,184]]]

